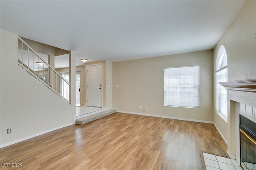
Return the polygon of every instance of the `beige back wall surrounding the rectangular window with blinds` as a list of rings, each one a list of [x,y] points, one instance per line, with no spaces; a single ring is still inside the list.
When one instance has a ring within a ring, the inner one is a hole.
[[[212,122],[212,55],[212,50],[209,50],[113,62],[113,108],[131,113]],[[164,106],[164,68],[192,65],[200,65],[200,108]],[[141,110],[139,106],[142,106]],[[145,112],[144,107],[147,107]]]

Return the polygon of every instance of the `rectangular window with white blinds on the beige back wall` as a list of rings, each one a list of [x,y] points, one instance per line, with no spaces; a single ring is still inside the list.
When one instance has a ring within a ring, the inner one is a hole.
[[[200,107],[200,67],[164,69],[164,105]]]

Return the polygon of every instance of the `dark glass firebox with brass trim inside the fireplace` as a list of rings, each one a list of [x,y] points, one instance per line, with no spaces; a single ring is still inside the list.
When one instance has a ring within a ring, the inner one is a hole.
[[[244,170],[256,170],[256,123],[240,115],[240,162]]]

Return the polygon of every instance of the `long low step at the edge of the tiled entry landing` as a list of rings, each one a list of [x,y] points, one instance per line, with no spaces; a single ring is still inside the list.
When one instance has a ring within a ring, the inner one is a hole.
[[[116,113],[116,112],[117,112],[116,109],[109,109],[109,110],[107,110],[107,111],[103,111],[103,112],[100,112],[100,113],[96,113],[96,114],[94,114],[94,115],[90,115],[90,116],[87,116],[87,117],[83,117],[83,118],[80,118],[80,119],[76,119],[76,124],[78,124],[78,125],[84,125],[84,124],[86,124],[86,123],[95,121],[95,120],[97,120],[97,119],[100,119],[100,118],[102,118],[102,117],[111,115],[111,114]]]

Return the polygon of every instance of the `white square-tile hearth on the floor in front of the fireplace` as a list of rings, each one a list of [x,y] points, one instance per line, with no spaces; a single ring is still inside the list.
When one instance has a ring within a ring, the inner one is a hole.
[[[235,159],[203,152],[206,170],[242,170]]]

